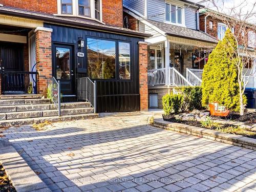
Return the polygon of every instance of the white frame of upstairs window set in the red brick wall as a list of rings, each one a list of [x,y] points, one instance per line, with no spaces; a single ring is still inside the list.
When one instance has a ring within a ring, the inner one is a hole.
[[[80,18],[87,18],[91,20],[96,20],[97,22],[102,22],[102,0],[100,1],[100,20],[95,18],[95,5],[94,0],[90,0],[90,16],[86,15],[79,15],[79,9],[78,9],[78,0],[72,0],[72,14],[62,14],[61,13],[61,0],[57,0],[57,14],[58,16],[70,16],[70,17],[80,17]]]

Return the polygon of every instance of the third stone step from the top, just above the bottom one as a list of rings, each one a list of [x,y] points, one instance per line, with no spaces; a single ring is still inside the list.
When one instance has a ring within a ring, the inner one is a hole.
[[[94,112],[93,108],[62,109],[61,116],[87,114],[87,113],[93,113],[93,112]],[[58,115],[58,110],[8,112],[8,113],[0,113],[0,120],[51,117],[51,116],[57,116],[57,115]]]

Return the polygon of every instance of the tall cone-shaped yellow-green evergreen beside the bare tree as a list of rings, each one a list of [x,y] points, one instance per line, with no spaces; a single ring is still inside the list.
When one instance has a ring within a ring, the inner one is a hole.
[[[218,101],[228,109],[239,111],[238,70],[234,59],[237,42],[228,29],[222,41],[209,55],[202,77],[202,105]],[[246,99],[245,99],[246,100]]]

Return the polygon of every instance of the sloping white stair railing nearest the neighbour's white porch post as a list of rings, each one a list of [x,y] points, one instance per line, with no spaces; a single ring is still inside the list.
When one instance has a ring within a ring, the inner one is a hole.
[[[180,74],[175,68],[169,68],[170,84],[176,87],[193,86],[183,75]]]

